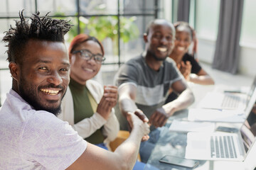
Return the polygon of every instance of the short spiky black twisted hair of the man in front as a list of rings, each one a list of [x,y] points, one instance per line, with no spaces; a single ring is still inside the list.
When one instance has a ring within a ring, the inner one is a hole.
[[[48,40],[53,42],[64,42],[64,35],[68,33],[71,26],[69,21],[39,16],[39,12],[33,13],[31,23],[23,17],[23,10],[19,12],[20,21],[16,21],[16,28],[11,27],[6,31],[3,41],[7,43],[6,51],[9,62],[22,64],[24,47],[28,40]]]

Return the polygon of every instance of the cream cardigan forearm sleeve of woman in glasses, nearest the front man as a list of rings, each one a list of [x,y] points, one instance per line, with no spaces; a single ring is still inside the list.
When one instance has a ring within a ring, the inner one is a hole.
[[[102,125],[107,123],[107,120],[103,118],[99,113],[94,113],[90,118],[85,118],[73,125],[73,129],[78,132],[82,138],[90,137],[92,133],[100,129]]]

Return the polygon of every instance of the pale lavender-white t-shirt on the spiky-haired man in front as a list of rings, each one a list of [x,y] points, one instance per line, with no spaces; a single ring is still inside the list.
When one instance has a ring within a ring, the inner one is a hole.
[[[0,111],[0,169],[66,169],[87,142],[67,122],[11,90]]]

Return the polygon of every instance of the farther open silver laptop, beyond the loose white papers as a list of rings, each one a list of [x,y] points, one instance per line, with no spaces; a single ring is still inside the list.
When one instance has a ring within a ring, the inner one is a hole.
[[[208,92],[206,96],[198,103],[198,108],[210,109],[226,109],[226,110],[240,110],[245,111],[250,97],[255,91],[256,77],[250,86],[247,94],[242,93],[222,93],[222,92]]]

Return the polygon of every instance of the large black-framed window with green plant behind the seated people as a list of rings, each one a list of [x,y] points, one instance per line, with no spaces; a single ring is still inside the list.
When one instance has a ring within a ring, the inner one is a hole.
[[[163,0],[0,0],[0,38],[3,38],[4,31],[9,30],[10,24],[14,26],[14,19],[18,19],[18,11],[21,11],[23,8],[26,9],[23,12],[25,17],[31,16],[31,13],[36,13],[36,11],[40,11],[41,15],[45,15],[50,11],[49,16],[68,18],[75,26],[65,35],[67,42],[78,33],[87,33],[85,26],[88,25],[87,21],[89,21],[90,18],[113,18],[113,22],[117,26],[117,30],[119,30],[120,34],[115,30],[113,33],[117,34],[117,38],[111,40],[110,36],[107,36],[105,40],[102,40],[107,60],[103,63],[99,73],[99,75],[102,74],[102,77],[107,79],[107,81],[103,80],[102,84],[112,84],[112,82],[108,82],[112,80],[110,76],[114,76],[113,72],[110,71],[117,70],[119,65],[127,61],[130,57],[135,57],[143,52],[143,33],[146,29],[146,23],[156,16],[163,16],[163,10],[159,8],[162,1]],[[117,23],[117,18],[120,24]],[[131,20],[133,21],[130,22]],[[127,23],[125,26],[123,26],[124,21]],[[132,27],[132,31],[124,31],[124,28],[131,26],[132,23],[134,23],[138,29]],[[137,36],[134,36],[134,33],[137,33]],[[98,37],[100,35],[95,36]],[[129,40],[127,40],[128,36],[130,36]],[[117,47],[117,55],[112,55],[113,47],[111,44]],[[11,86],[11,77],[8,62],[6,62],[7,54],[4,53],[5,51],[6,47],[4,47],[4,42],[0,42],[0,106],[1,102],[4,101],[3,98],[6,97],[6,92],[9,91]],[[101,80],[101,77],[99,79]]]

